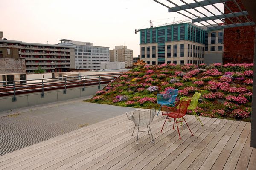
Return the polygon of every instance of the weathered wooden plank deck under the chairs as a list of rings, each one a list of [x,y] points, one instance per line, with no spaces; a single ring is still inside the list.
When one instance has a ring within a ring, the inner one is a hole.
[[[119,115],[0,156],[0,170],[256,169],[250,123],[201,117],[201,126],[195,116],[186,120],[194,136],[184,125],[179,140],[173,122],[161,133],[164,117],[156,116],[151,124],[155,143],[143,132],[136,145],[133,122]]]

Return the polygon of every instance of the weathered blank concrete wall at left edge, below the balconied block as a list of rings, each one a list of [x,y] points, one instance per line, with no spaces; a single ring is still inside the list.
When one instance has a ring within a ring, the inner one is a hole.
[[[26,74],[25,59],[0,58],[0,74],[20,73]]]

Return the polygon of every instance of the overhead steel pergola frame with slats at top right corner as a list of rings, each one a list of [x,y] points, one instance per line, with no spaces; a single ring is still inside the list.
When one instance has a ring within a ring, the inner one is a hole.
[[[177,12],[178,14],[183,15],[184,17],[187,17],[191,19],[192,23],[200,23],[201,25],[205,26],[207,30],[215,30],[215,29],[224,29],[224,28],[233,28],[238,26],[253,26],[255,23],[250,20],[247,16],[249,15],[247,11],[243,11],[239,4],[236,2],[236,0],[203,0],[203,1],[197,1],[193,0],[194,3],[186,3],[186,0],[177,0],[183,5],[178,5],[177,3],[174,3],[172,0],[166,0],[166,3],[161,3],[159,0],[154,0],[155,2],[165,6],[168,8],[168,12]],[[233,1],[236,6],[238,7],[240,12],[233,12],[226,4],[227,1]],[[225,8],[230,12],[228,14],[224,14],[217,6],[216,4],[221,3]],[[169,4],[172,5],[172,7],[169,6]],[[206,6],[212,6],[214,9],[216,9],[221,14],[215,14],[214,12],[211,12],[209,9],[207,9]],[[212,16],[207,16],[203,12],[199,11],[198,7],[202,7],[204,10],[212,14]],[[190,11],[188,11],[190,9]],[[193,10],[193,11],[191,11]],[[188,16],[187,14],[184,14],[184,12],[187,12],[191,14],[194,18],[191,16]],[[198,12],[204,17],[198,17],[195,12]],[[234,23],[230,18],[235,17],[239,23]],[[243,22],[239,19],[239,17],[245,17],[247,22]],[[229,20],[231,24],[227,24],[225,20]],[[220,20],[221,23],[218,23],[216,20]],[[213,23],[210,23],[209,21],[212,21]],[[205,24],[207,23],[207,24]]]

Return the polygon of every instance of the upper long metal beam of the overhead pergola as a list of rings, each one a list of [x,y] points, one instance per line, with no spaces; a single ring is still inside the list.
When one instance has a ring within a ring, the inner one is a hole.
[[[215,4],[215,3],[223,3],[229,0],[203,0],[200,1],[198,3],[189,3],[189,4],[185,4],[185,5],[181,5],[181,6],[175,6],[175,7],[171,7],[168,9],[168,12],[177,12],[177,11],[181,11],[184,9],[192,9],[192,8],[196,8],[196,7],[200,7],[200,6],[206,6],[206,5],[211,5],[211,4]]]

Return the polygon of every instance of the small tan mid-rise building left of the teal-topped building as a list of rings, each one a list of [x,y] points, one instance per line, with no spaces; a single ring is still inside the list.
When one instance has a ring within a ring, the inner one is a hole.
[[[127,49],[127,46],[115,46],[110,50],[111,62],[125,62],[125,67],[131,67],[133,64],[133,50]]]

